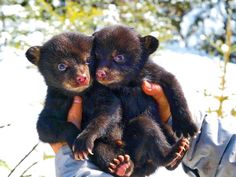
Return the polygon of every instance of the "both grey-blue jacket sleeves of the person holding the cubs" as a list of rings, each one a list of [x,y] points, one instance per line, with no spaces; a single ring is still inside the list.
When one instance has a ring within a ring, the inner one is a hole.
[[[201,132],[183,159],[185,172],[194,177],[236,177],[236,120],[202,114],[195,118]],[[55,163],[57,177],[112,177],[89,160],[73,160],[68,146],[56,154]]]

